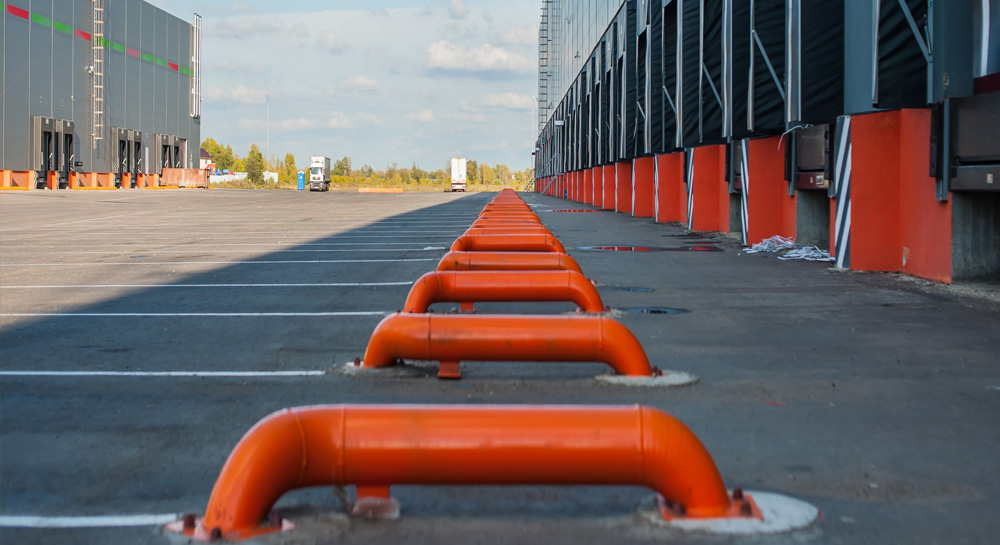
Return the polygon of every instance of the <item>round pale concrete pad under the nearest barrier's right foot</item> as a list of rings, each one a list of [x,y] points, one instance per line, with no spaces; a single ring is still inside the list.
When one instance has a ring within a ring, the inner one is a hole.
[[[666,526],[685,532],[699,532],[724,535],[764,535],[791,532],[807,528],[819,518],[819,509],[812,505],[770,492],[752,492],[757,508],[760,509],[763,520],[751,518],[720,518],[720,519],[681,519],[665,521],[660,516],[659,508],[653,501],[644,502],[640,507],[643,517],[654,524]]]

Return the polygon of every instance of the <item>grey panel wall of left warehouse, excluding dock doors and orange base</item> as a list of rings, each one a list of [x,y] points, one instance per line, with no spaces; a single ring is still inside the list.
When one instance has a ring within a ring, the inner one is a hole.
[[[144,171],[154,172],[156,134],[189,143],[183,165],[198,164],[201,121],[190,116],[191,32],[187,22],[142,0],[106,1],[104,139],[92,132],[91,0],[3,2],[0,37],[0,168],[30,170],[34,116],[75,123],[81,172],[111,172],[112,130],[142,131]],[[27,13],[27,18],[24,14]],[[174,68],[176,65],[176,69]]]

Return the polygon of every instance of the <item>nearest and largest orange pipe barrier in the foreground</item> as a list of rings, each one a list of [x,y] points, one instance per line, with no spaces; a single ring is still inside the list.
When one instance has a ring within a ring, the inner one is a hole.
[[[352,484],[359,499],[387,498],[391,485],[634,485],[688,517],[739,517],[744,505],[743,516],[760,517],[749,496],[726,492],[698,437],[650,407],[319,405],[254,425],[204,519],[192,517],[183,533],[206,541],[278,531],[268,513],[286,492]]]

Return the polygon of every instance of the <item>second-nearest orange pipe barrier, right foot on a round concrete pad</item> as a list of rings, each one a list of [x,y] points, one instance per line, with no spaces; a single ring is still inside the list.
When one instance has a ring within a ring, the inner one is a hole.
[[[653,376],[642,345],[627,327],[605,316],[403,314],[383,319],[363,365],[399,359],[440,362],[438,376],[458,378],[459,361],[593,361],[618,374]]]

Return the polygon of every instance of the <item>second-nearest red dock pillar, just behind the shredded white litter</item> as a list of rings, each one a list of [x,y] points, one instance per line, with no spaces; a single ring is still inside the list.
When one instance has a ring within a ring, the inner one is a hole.
[[[788,196],[785,181],[787,139],[756,138],[747,143],[747,243],[756,244],[774,235],[795,236],[795,197]],[[779,148],[778,145],[781,144]]]

